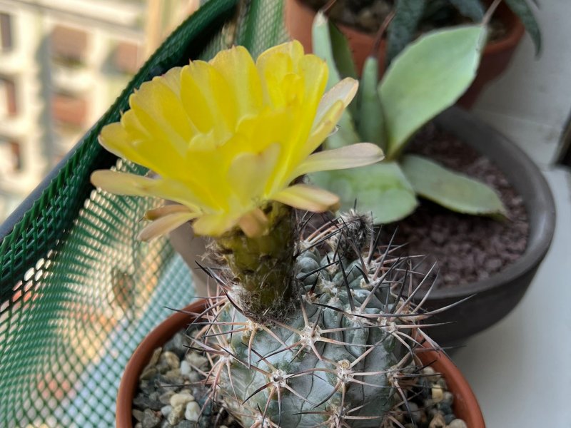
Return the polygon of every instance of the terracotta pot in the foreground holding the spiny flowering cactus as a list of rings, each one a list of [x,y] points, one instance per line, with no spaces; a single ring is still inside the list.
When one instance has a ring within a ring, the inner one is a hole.
[[[206,300],[198,300],[185,308],[186,312],[201,313],[206,307]],[[145,339],[138,345],[131,360],[127,363],[121,384],[117,394],[116,426],[118,428],[132,428],[132,402],[138,385],[138,377],[143,368],[151,360],[153,351],[168,342],[176,332],[186,327],[194,317],[182,312],[176,312],[161,322]],[[444,375],[450,392],[454,394],[453,409],[457,417],[464,419],[469,428],[485,428],[484,418],[477,399],[470,389],[470,385],[458,370],[458,367],[445,356],[443,352],[422,350],[418,357],[427,365],[432,363],[436,372]]]

